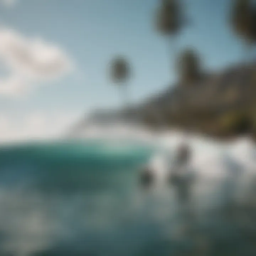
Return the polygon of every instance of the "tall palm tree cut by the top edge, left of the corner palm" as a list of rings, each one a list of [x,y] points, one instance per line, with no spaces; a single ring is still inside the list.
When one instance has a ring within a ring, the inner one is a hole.
[[[170,43],[170,50],[174,53],[175,39],[185,25],[185,18],[179,0],[161,0],[160,8],[157,12],[156,27],[164,36],[167,36]]]

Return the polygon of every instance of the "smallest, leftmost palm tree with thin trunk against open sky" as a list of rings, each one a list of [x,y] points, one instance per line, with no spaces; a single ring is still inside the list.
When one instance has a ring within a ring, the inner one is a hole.
[[[130,66],[122,56],[117,56],[111,61],[111,79],[118,85],[121,97],[126,106],[129,105],[127,81],[130,77]]]

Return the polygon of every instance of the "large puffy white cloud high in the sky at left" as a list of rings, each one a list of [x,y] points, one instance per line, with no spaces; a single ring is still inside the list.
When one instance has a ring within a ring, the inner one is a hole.
[[[0,94],[17,96],[36,84],[60,78],[71,70],[71,61],[59,47],[40,38],[29,39],[0,29],[0,59],[10,76],[0,78]]]

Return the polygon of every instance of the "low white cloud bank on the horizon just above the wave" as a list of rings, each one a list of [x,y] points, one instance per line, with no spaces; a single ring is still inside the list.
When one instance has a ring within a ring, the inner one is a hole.
[[[81,113],[32,112],[21,120],[0,115],[0,142],[56,138],[68,132]]]

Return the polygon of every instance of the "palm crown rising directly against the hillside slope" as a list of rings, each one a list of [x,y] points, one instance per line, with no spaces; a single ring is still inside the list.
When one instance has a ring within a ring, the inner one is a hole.
[[[177,72],[184,85],[196,81],[201,74],[198,54],[191,48],[185,49],[177,59]]]

